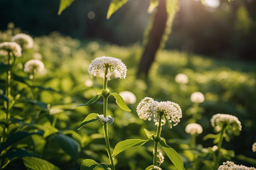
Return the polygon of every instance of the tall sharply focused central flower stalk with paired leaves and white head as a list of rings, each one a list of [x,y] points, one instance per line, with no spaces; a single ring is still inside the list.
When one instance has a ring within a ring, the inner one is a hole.
[[[114,58],[114,57],[102,56],[102,57],[95,58],[92,61],[92,63],[89,66],[88,73],[91,76],[96,76],[97,73],[101,70],[104,71],[104,83],[103,83],[102,92],[97,94],[94,98],[92,98],[89,102],[87,102],[86,104],[84,104],[82,106],[87,106],[87,105],[93,104],[100,97],[103,97],[103,100],[104,100],[103,101],[103,103],[104,103],[104,105],[103,105],[103,115],[94,114],[94,113],[88,115],[84,119],[82,124],[78,127],[78,129],[80,129],[84,125],[86,125],[88,123],[91,123],[91,122],[94,122],[96,120],[100,120],[102,122],[103,130],[104,130],[104,136],[105,136],[105,143],[106,143],[106,147],[107,147],[107,153],[108,153],[109,161],[110,161],[110,164],[111,164],[111,169],[115,170],[115,165],[114,165],[113,157],[112,157],[111,150],[110,150],[110,143],[109,143],[109,136],[108,136],[108,125],[111,125],[114,122],[114,119],[111,116],[107,115],[108,97],[109,96],[114,96],[115,99],[116,99],[116,103],[123,110],[126,110],[126,111],[131,111],[131,110],[127,107],[123,98],[119,94],[111,93],[109,91],[109,89],[107,88],[107,83],[108,83],[108,80],[110,80],[111,75],[114,74],[114,73],[120,79],[124,79],[126,77],[127,69],[126,69],[125,64],[120,59],[117,59],[117,58]],[[82,165],[81,165],[81,168],[91,166],[91,165],[88,165],[88,162],[90,162],[92,165],[99,165],[99,166],[102,166],[103,168],[104,168],[104,166],[106,167],[105,164],[102,164],[102,163],[98,164],[94,160],[85,159],[83,161]]]

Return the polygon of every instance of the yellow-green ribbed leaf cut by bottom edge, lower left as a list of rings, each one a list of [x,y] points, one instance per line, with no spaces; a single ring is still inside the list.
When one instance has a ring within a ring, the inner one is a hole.
[[[27,170],[60,170],[57,166],[40,158],[23,157],[22,160]]]

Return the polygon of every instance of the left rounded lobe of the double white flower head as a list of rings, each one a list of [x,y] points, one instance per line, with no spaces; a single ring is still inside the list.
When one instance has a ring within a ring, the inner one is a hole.
[[[151,117],[156,113],[155,107],[156,102],[154,101],[154,99],[150,97],[145,97],[138,104],[136,111],[140,119],[150,121]]]

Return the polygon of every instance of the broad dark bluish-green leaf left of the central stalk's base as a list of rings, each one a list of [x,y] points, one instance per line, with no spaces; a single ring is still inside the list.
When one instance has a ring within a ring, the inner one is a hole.
[[[80,152],[79,143],[73,138],[61,133],[56,133],[55,137],[60,147],[76,161],[78,159],[78,153]]]

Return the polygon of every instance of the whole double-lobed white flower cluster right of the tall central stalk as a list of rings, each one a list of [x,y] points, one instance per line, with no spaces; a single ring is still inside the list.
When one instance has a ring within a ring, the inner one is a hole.
[[[137,106],[137,114],[141,119],[151,120],[154,116],[154,122],[158,122],[159,114],[164,114],[162,122],[164,122],[165,117],[170,123],[174,123],[176,126],[180,119],[182,118],[182,111],[178,104],[174,102],[157,102],[154,99],[145,97]]]

